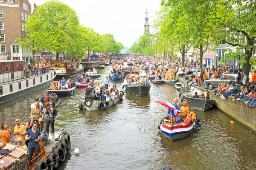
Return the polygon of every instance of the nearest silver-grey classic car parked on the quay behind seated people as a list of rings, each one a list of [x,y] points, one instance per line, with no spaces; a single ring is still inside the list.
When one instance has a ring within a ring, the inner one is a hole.
[[[208,88],[212,89],[218,88],[219,83],[225,83],[227,85],[230,81],[236,82],[236,77],[237,74],[224,74],[218,79],[205,80],[205,85],[207,85]]]

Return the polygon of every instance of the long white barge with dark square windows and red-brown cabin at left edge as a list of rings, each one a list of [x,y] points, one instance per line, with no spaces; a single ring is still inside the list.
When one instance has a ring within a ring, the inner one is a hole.
[[[56,77],[55,70],[26,77],[24,64],[24,61],[0,61],[0,104],[48,87]]]

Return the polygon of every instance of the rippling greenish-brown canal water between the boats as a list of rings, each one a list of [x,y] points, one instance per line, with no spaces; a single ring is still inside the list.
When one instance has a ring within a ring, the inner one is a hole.
[[[110,67],[99,70],[96,79],[103,85]],[[76,79],[75,77],[73,77]],[[115,82],[121,90],[122,81]],[[113,84],[111,83],[111,86]],[[157,129],[167,109],[151,99],[165,102],[179,95],[173,86],[151,85],[150,96],[125,94],[116,107],[100,111],[80,111],[83,88],[75,95],[61,98],[57,107],[55,132],[67,131],[72,149],[58,170],[246,170],[256,167],[256,135],[218,109],[195,111],[201,119],[198,133],[170,141]],[[47,94],[41,89],[0,106],[0,122],[14,128],[15,119],[23,125],[29,121],[34,97]],[[181,102],[178,102],[181,106]],[[243,113],[241,113],[243,114]],[[79,154],[74,149],[79,148]]]

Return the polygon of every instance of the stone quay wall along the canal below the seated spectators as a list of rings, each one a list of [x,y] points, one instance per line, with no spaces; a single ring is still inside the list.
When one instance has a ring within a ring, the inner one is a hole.
[[[178,77],[180,83],[186,84],[186,80]],[[205,91],[205,88],[201,86],[195,86],[198,90]],[[210,96],[215,99],[215,106],[226,113],[228,116],[236,119],[242,125],[248,127],[249,129],[256,132],[256,108],[247,107],[246,104],[243,104],[239,101],[233,102],[231,99],[234,99],[234,96],[229,96],[227,99],[221,99],[217,95],[212,95],[212,91],[207,89],[210,93]]]

